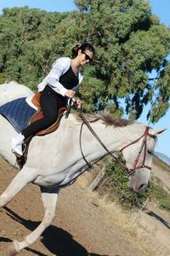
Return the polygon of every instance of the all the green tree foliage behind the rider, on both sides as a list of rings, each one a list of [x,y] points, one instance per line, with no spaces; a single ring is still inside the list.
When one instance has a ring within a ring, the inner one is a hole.
[[[158,121],[169,108],[170,31],[151,15],[144,0],[75,0],[78,10],[47,13],[40,9],[3,9],[0,15],[0,72],[31,89],[53,61],[71,54],[77,43],[94,44],[97,55],[82,69],[79,94],[83,110],[104,108],[138,119],[146,104]],[[150,80],[150,73],[155,78]],[[122,100],[126,109],[122,108]]]

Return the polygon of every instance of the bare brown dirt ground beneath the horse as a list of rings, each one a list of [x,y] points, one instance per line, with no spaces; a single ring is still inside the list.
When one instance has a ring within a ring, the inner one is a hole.
[[[0,158],[1,193],[16,172]],[[121,226],[120,218],[119,223],[116,223],[116,218],[111,218],[110,213],[105,211],[105,207],[100,206],[98,201],[95,201],[94,197],[78,183],[62,189],[54,224],[31,247],[23,250],[20,256],[158,255],[145,253],[145,249],[142,249],[142,241],[139,245],[135,237],[136,233],[129,234],[123,224]],[[14,239],[21,241],[31,230],[34,230],[42,216],[43,207],[39,188],[29,184],[0,212],[0,256],[6,255],[10,241]],[[146,232],[149,233],[147,230]],[[165,230],[162,234],[164,232]],[[150,236],[153,236],[152,232]],[[170,233],[166,236],[170,237]],[[167,251],[161,252],[159,256],[170,255],[170,249],[169,254],[165,254],[168,253],[168,248]]]

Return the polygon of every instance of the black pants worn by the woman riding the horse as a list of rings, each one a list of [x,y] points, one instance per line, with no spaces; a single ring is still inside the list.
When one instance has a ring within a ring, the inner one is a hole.
[[[65,97],[57,94],[48,85],[42,90],[40,104],[44,118],[31,123],[31,125],[28,125],[26,129],[21,131],[25,138],[35,135],[38,131],[42,131],[53,125],[58,118],[59,108],[66,105]]]

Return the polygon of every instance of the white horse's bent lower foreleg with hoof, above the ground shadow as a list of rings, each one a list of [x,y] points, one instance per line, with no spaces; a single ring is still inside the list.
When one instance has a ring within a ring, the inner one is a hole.
[[[8,247],[8,256],[14,256],[26,247],[29,247],[34,241],[37,240],[42,232],[52,224],[55,217],[55,207],[59,195],[59,189],[47,189],[41,188],[42,202],[45,210],[44,218],[42,223],[39,224],[36,230],[31,232],[30,235],[26,236],[23,241],[13,241]]]

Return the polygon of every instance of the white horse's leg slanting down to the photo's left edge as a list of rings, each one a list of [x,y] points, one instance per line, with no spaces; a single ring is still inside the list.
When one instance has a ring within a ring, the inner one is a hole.
[[[31,183],[37,177],[35,170],[30,170],[24,167],[18,174],[14,177],[12,182],[8,185],[7,189],[3,191],[0,196],[0,207],[4,207],[9,201],[20,192],[21,189],[26,187],[28,183]]]

